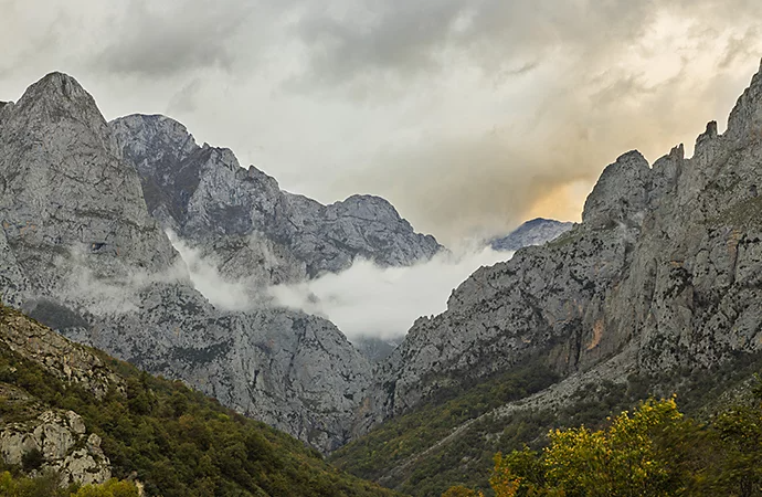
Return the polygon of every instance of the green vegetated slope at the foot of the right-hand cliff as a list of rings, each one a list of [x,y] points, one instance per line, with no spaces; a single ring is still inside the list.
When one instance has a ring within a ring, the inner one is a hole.
[[[497,452],[510,453],[525,445],[541,450],[549,443],[549,430],[581,424],[597,429],[608,416],[649,396],[677,393],[688,414],[706,420],[731,402],[737,391],[744,391],[743,383],[759,364],[759,355],[740,355],[710,370],[677,368],[659,374],[631,374],[624,382],[586,384],[560,408],[523,408],[507,417],[489,414],[494,406],[525,396],[553,379],[541,367],[525,367],[453,390],[444,399],[390,420],[329,461],[410,495],[438,497],[455,485],[491,495],[489,477]],[[455,436],[437,445],[458,426],[463,427]]]

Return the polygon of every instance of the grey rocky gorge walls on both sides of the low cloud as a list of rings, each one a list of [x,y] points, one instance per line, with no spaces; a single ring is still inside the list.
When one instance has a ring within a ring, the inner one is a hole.
[[[496,241],[514,250],[553,239],[478,269],[446,311],[419,318],[371,364],[330,321],[275,307],[261,290],[356,257],[426,261],[444,251],[432,236],[377,197],[322,205],[282,191],[170,118],[106,123],[76,81],[53,73],[0,105],[0,292],[65,337],[322,453],[353,441],[334,461],[356,474],[436,495],[446,482],[432,458],[447,462],[447,477],[478,473],[483,454],[468,451],[537,442],[531,430],[510,433],[528,413],[579,421],[585,398],[626,408],[756,363],[760,163],[762,73],[726,133],[709,123],[691,158],[681,145],[653,165],[624,154],[581,223]],[[251,305],[210,304],[167,233],[241,283]]]

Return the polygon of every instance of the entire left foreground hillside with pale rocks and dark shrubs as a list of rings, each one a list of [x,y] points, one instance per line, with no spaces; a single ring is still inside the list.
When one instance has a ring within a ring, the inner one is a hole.
[[[52,469],[64,486],[114,475],[149,496],[393,495],[180,382],[151,378],[2,306],[0,468]]]

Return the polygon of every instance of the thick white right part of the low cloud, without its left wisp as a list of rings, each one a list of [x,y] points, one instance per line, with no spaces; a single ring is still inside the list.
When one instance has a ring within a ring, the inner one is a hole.
[[[382,268],[357,260],[347,271],[269,288],[285,307],[327,317],[350,340],[404,336],[416,318],[447,308],[454,288],[480,266],[507,261],[512,252],[484,248],[456,257],[440,254],[409,267]]]

